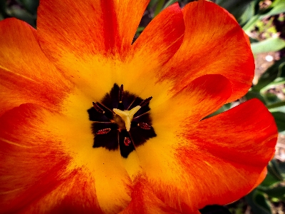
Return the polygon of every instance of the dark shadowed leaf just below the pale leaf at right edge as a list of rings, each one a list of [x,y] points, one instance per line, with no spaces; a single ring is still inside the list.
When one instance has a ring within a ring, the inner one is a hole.
[[[285,56],[276,61],[274,65],[269,67],[259,78],[257,85],[252,88],[252,91],[261,91],[269,84],[272,84],[276,78],[285,78]]]

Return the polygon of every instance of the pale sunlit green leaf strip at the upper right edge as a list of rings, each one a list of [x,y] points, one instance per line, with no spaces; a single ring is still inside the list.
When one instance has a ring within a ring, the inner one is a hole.
[[[285,41],[278,37],[269,38],[264,41],[259,41],[252,44],[252,52],[254,54],[261,54],[269,51],[280,51],[285,48]]]

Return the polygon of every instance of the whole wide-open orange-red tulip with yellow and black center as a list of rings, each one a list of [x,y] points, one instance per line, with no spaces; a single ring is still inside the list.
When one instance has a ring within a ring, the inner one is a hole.
[[[203,119],[251,86],[247,36],[195,1],[132,44],[147,4],[42,0],[37,30],[0,22],[0,213],[199,213],[261,183],[266,107]]]

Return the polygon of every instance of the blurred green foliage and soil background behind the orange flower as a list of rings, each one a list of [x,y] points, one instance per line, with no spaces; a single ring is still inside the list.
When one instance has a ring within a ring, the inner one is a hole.
[[[151,0],[135,39],[160,11],[174,2]],[[178,2],[184,6],[190,1]],[[275,118],[279,141],[266,179],[259,187],[235,203],[204,208],[201,213],[285,214],[285,0],[215,0],[214,3],[233,14],[250,37],[256,70],[247,95],[212,115],[250,98],[259,98]],[[0,20],[16,17],[36,28],[37,7],[38,0],[0,0]]]

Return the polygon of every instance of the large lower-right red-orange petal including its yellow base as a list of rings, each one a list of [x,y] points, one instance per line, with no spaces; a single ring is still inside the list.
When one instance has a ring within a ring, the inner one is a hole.
[[[249,193],[275,151],[274,118],[255,99],[199,122],[155,121],[157,137],[135,149],[157,198],[185,213]]]

